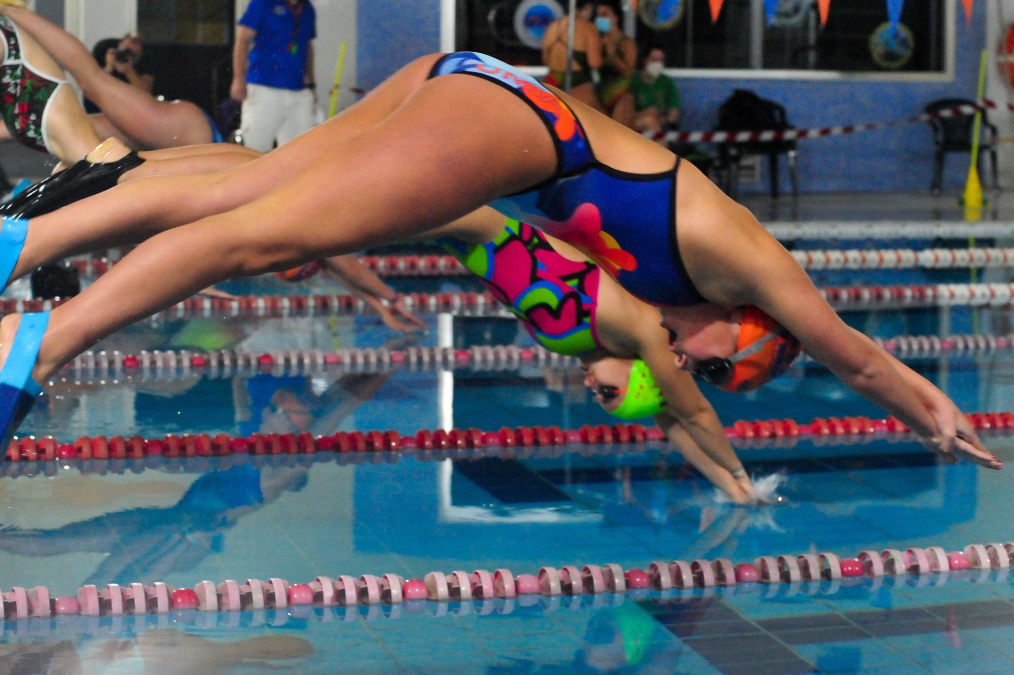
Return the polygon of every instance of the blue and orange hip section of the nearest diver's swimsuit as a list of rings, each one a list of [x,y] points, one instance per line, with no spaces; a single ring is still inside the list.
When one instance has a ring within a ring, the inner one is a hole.
[[[577,172],[595,161],[584,127],[560,96],[535,78],[499,59],[476,52],[445,55],[430,77],[463,73],[496,82],[521,97],[541,118],[557,148],[557,173]]]

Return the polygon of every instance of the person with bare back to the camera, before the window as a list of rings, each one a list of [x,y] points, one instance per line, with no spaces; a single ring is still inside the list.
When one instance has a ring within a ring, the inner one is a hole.
[[[595,93],[595,78],[602,66],[602,39],[591,22],[595,3],[581,0],[577,3],[574,20],[574,59],[571,64],[570,94],[582,103],[602,111]],[[561,16],[551,23],[542,38],[542,65],[550,69],[546,83],[558,89],[567,84],[567,41],[570,34],[570,17]]]

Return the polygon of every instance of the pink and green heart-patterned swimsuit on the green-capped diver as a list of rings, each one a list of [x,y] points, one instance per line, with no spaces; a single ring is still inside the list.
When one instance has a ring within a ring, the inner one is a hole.
[[[546,349],[567,356],[601,349],[595,333],[600,273],[594,262],[561,255],[541,232],[510,219],[493,241],[443,238],[440,244]]]

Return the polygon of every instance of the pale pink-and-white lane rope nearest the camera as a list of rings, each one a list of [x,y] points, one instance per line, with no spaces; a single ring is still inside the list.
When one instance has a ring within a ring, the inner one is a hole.
[[[945,575],[951,571],[1008,571],[1014,542],[969,544],[947,552],[940,546],[862,550],[855,557],[841,558],[831,552],[763,555],[752,562],[733,565],[729,558],[714,560],[655,560],[646,569],[624,570],[617,564],[542,567],[536,574],[456,570],[430,572],[422,579],[406,580],[395,574],[316,577],[310,582],[289,584],[284,579],[247,579],[221,583],[202,581],[193,588],[108,584],[82,586],[75,595],[54,597],[45,586],[15,586],[0,593],[3,618],[26,619],[53,616],[122,616],[166,614],[170,611],[259,611],[299,606],[357,607],[402,605],[413,600],[437,603],[516,600],[522,597],[574,597],[623,594],[654,589],[668,592],[687,589],[736,587],[740,584],[790,586],[802,582],[841,583],[843,579],[879,579],[901,575]]]

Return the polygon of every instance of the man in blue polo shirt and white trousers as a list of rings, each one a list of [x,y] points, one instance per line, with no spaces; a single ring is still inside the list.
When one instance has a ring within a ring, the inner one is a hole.
[[[309,0],[250,0],[236,27],[229,90],[243,103],[247,148],[268,152],[313,127],[314,38]]]

